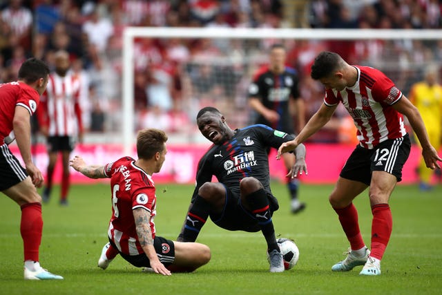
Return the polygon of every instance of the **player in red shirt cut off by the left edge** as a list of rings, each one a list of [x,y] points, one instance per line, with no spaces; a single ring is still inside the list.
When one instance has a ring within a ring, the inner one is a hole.
[[[41,197],[35,187],[41,187],[44,179],[30,153],[30,116],[39,105],[40,95],[48,84],[48,74],[48,66],[32,58],[21,64],[17,82],[0,85],[0,191],[21,208],[20,234],[26,280],[63,279],[43,269],[39,263],[43,219]],[[25,168],[8,147],[14,140]]]

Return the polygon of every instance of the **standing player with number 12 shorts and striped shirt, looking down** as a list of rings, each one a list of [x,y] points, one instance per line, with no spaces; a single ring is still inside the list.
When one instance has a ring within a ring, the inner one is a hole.
[[[360,143],[349,156],[329,196],[351,247],[347,258],[333,265],[332,271],[347,272],[356,265],[364,265],[360,274],[377,276],[381,274],[381,259],[392,234],[388,200],[396,183],[401,181],[403,164],[410,155],[410,138],[405,132],[403,115],[419,138],[427,167],[439,167],[437,161],[442,159],[428,140],[417,108],[379,70],[352,66],[336,53],[323,52],[311,66],[311,77],[326,88],[324,104],[294,140],[280,146],[278,156],[296,149],[330,120],[340,102],[344,104],[358,128]],[[367,187],[373,214],[371,252],[365,247],[358,211],[353,204],[354,198]]]

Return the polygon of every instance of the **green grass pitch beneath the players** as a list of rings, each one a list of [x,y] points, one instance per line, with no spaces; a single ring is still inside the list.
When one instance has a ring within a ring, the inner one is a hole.
[[[164,277],[145,274],[121,257],[103,271],[97,267],[111,215],[107,183],[74,185],[70,206],[59,207],[55,187],[44,204],[41,265],[64,276],[62,281],[23,280],[20,209],[2,195],[0,208],[0,294],[440,294],[442,289],[442,187],[421,193],[398,185],[390,201],[393,234],[382,261],[381,276],[334,273],[348,247],[336,213],[329,207],[329,185],[301,184],[307,208],[289,213],[286,187],[273,184],[280,209],[273,216],[276,234],[293,238],[300,249],[298,265],[269,273],[265,240],[260,233],[224,231],[211,221],[198,241],[211,247],[208,265],[191,274]],[[157,234],[175,239],[182,226],[193,186],[157,184]],[[361,231],[369,245],[371,211],[367,192],[355,201]]]

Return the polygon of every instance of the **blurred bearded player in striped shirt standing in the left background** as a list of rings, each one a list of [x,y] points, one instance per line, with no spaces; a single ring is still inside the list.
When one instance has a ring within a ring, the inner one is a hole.
[[[69,71],[69,54],[64,50],[55,53],[55,73],[49,75],[48,87],[41,97],[38,119],[41,133],[48,140],[49,164],[43,201],[48,202],[52,189],[52,178],[57,158],[61,153],[63,170],[61,173],[60,204],[67,205],[69,191],[69,156],[74,149],[75,137],[81,142],[83,126],[79,104],[80,84]]]

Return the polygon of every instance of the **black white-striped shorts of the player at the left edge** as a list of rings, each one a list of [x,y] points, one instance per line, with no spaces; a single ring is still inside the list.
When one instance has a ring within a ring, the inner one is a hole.
[[[28,177],[26,169],[19,160],[12,155],[8,144],[0,146],[0,191],[9,189]]]

